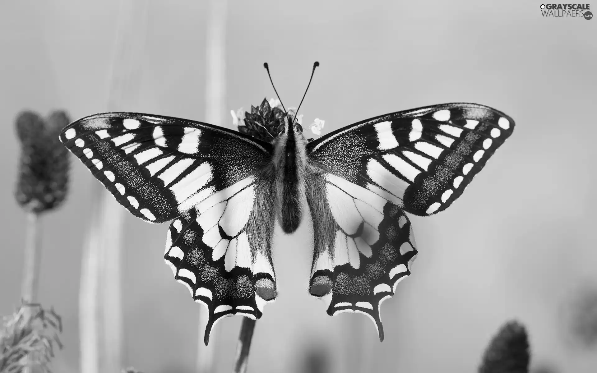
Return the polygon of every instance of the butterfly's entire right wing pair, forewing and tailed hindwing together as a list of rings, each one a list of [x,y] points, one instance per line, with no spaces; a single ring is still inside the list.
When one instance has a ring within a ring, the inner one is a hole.
[[[383,340],[381,302],[418,253],[405,211],[448,208],[513,128],[491,107],[454,103],[379,116],[307,145],[319,170],[307,184],[315,233],[309,289],[329,315],[365,313]]]

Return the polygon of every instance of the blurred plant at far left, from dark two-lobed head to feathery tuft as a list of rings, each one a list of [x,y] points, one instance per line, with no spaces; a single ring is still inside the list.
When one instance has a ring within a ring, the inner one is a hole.
[[[54,345],[62,348],[60,316],[36,304],[41,266],[39,216],[59,207],[66,198],[69,154],[58,135],[69,123],[66,112],[56,111],[47,119],[24,111],[16,118],[21,143],[15,198],[27,214],[21,307],[4,317],[0,329],[0,372],[49,372]]]

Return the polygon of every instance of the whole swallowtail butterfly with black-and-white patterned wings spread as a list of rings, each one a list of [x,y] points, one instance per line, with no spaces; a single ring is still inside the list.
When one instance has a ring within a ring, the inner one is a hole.
[[[256,320],[276,299],[276,221],[293,233],[306,214],[313,223],[310,294],[328,315],[369,316],[383,341],[381,303],[411,274],[418,254],[406,213],[448,208],[515,125],[488,106],[448,103],[307,140],[296,113],[267,100],[246,115],[237,132],[168,116],[100,113],[60,134],[133,215],[172,221],[165,262],[207,307],[206,345],[222,317]]]

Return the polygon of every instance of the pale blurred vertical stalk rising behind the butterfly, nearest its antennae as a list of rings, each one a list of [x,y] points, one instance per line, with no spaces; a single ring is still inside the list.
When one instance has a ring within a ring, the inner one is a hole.
[[[226,0],[210,0],[206,17],[205,35],[205,121],[223,125],[223,113],[226,111]],[[213,371],[216,330],[212,329],[210,344],[203,343],[205,326],[209,313],[204,308],[199,310],[199,346],[197,351],[197,371]]]

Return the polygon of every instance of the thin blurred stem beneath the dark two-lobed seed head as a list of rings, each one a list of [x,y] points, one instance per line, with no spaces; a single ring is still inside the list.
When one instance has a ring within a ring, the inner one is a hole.
[[[27,212],[25,232],[25,264],[23,270],[23,300],[36,303],[39,292],[39,266],[41,263],[41,241],[39,221],[35,212]]]

